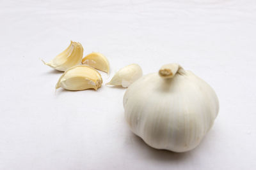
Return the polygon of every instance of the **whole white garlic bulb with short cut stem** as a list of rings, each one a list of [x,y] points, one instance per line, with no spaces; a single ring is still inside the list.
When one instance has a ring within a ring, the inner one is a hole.
[[[167,64],[128,87],[125,119],[153,148],[186,152],[211,129],[219,103],[214,90],[179,64]]]

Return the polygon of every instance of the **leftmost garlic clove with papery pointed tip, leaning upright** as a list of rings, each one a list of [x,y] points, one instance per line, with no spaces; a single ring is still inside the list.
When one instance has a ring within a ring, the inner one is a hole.
[[[71,41],[66,50],[57,55],[50,62],[44,62],[45,65],[50,66],[59,71],[66,71],[72,66],[76,66],[81,63],[83,58],[83,46],[81,43]]]

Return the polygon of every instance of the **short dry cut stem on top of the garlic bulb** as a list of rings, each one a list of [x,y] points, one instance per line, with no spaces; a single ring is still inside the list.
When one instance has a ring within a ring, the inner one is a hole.
[[[179,65],[179,64],[165,64],[163,65],[159,71],[158,74],[162,78],[173,78],[176,73],[184,74],[186,71]]]

